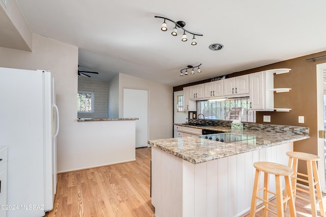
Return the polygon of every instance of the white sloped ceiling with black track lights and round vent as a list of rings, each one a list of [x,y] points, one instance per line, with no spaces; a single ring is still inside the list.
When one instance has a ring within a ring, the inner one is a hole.
[[[326,50],[324,0],[16,1],[33,33],[78,46],[81,69],[104,80],[124,73],[176,86]],[[182,42],[155,15],[203,36]],[[198,64],[201,74],[179,76]]]

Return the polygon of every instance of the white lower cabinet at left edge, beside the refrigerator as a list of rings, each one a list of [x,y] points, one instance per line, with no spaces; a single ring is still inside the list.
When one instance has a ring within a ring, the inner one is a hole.
[[[7,216],[7,209],[3,205],[7,205],[7,147],[0,147],[0,216]]]

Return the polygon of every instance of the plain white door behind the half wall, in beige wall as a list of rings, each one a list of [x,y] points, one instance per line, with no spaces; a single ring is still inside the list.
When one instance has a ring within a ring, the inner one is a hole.
[[[148,90],[123,89],[123,117],[136,120],[136,148],[147,147],[148,141]]]

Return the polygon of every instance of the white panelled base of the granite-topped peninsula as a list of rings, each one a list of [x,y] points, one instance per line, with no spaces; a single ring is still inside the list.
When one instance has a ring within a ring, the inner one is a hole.
[[[241,216],[250,210],[253,164],[267,161],[287,165],[287,151],[293,151],[293,142],[192,164],[153,147],[151,188],[155,216]],[[283,179],[283,189],[284,184]],[[269,179],[269,189],[275,192],[274,177]]]

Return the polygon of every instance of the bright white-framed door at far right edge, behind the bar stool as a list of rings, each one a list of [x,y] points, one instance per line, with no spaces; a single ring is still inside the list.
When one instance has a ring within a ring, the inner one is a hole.
[[[317,127],[326,130],[326,63],[317,65]],[[326,140],[318,138],[318,173],[321,190],[326,193]]]

